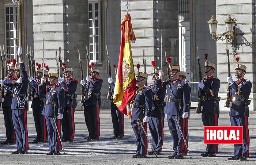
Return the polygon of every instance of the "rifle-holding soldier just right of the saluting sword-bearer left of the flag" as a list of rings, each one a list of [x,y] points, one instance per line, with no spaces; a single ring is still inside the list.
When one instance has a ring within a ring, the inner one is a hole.
[[[63,113],[62,124],[62,142],[73,142],[75,135],[74,114],[76,108],[76,87],[78,81],[73,79],[73,69],[67,68],[64,63],[63,76],[59,78],[58,83],[60,87],[65,90],[65,109]]]

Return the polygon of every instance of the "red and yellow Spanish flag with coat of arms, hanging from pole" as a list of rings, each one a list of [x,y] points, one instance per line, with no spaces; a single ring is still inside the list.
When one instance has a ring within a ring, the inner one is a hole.
[[[128,13],[125,14],[124,20],[121,22],[121,29],[122,39],[113,102],[120,112],[127,115],[126,105],[131,101],[136,92],[136,80],[130,43],[136,42],[136,38],[132,30],[131,16]]]

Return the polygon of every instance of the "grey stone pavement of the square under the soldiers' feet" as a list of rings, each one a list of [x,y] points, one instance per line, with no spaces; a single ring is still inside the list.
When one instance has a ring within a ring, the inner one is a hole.
[[[88,135],[83,112],[75,112],[75,140],[74,142],[63,143],[66,155],[63,151],[61,156],[46,156],[48,152],[48,142],[45,144],[32,144],[31,141],[35,137],[35,127],[33,114],[27,115],[28,131],[29,131],[29,154],[12,155],[11,152],[16,150],[16,145],[0,145],[0,165],[4,164],[256,164],[256,113],[250,112],[249,131],[250,131],[250,155],[248,161],[228,161],[227,158],[233,154],[233,145],[219,145],[219,152],[215,158],[202,158],[200,154],[204,152],[206,145],[203,144],[203,124],[199,114],[195,110],[191,110],[189,119],[189,150],[192,159],[189,156],[183,160],[170,160],[167,157],[172,154],[172,137],[165,119],[164,127],[164,143],[162,155],[158,158],[148,156],[146,159],[132,158],[135,153],[135,135],[131,128],[131,124],[127,116],[125,116],[125,136],[123,140],[110,140],[113,136],[113,126],[111,121],[110,110],[101,110],[100,126],[101,136],[99,141],[86,141],[83,138]],[[222,111],[219,117],[220,126],[230,126],[228,111]],[[150,133],[148,130],[150,137]],[[151,139],[151,137],[150,137]],[[0,141],[5,140],[5,127],[3,121],[3,113],[0,112]],[[148,149],[150,144],[148,143]]]

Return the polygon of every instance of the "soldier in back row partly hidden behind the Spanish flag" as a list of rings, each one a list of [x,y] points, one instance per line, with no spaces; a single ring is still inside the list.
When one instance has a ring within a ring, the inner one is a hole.
[[[115,76],[116,76],[116,73],[117,73],[116,64],[113,64],[113,66],[115,69]],[[112,77],[109,78],[108,82],[109,82],[109,86],[114,91],[115,84],[113,82],[113,78]],[[118,110],[113,100],[111,100],[110,107],[111,107],[112,124],[114,128],[114,137],[110,138],[110,140],[114,140],[114,139],[121,140],[124,137],[124,114]]]

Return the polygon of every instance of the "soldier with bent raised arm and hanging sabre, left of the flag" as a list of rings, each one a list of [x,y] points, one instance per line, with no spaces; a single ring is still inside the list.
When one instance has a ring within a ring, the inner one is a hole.
[[[46,104],[42,111],[45,115],[50,152],[46,155],[60,155],[61,150],[61,119],[65,106],[65,91],[58,84],[58,73],[49,73],[49,84],[46,87],[44,77],[38,86],[40,92],[46,91]],[[57,116],[57,119],[56,119]]]

